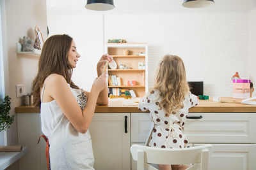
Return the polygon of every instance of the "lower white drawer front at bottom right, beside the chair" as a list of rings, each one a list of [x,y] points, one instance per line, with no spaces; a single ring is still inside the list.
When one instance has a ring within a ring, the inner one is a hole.
[[[198,146],[202,144],[194,144]],[[255,144],[212,144],[209,170],[255,170]]]

